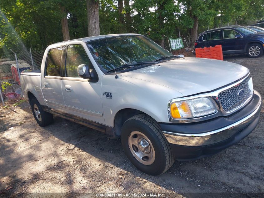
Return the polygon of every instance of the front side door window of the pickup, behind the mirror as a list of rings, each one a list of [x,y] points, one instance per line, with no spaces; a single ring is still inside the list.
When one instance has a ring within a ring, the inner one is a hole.
[[[87,64],[91,68],[92,63],[81,44],[68,45],[66,55],[66,77],[80,78],[77,67]]]

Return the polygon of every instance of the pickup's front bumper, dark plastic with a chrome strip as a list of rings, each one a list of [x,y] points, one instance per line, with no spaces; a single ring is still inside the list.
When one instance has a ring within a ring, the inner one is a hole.
[[[249,103],[229,116],[197,123],[160,125],[176,158],[194,160],[216,154],[249,135],[257,126],[261,108],[261,95],[254,90]]]

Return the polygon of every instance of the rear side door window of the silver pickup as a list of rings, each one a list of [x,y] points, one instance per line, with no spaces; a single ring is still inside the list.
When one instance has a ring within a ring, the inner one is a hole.
[[[47,64],[46,64],[46,75],[61,76],[60,66],[61,66],[62,51],[63,51],[63,47],[52,48],[49,50]]]

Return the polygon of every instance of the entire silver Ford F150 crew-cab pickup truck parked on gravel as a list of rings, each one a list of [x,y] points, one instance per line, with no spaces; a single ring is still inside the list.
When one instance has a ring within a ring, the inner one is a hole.
[[[132,164],[151,175],[242,140],[262,107],[247,68],[173,56],[140,34],[52,44],[21,84],[40,126],[57,115],[121,137]]]

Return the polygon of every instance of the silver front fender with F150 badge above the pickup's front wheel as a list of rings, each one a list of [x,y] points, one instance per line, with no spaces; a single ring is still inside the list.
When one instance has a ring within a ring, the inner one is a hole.
[[[112,97],[106,97],[112,93]],[[102,79],[102,104],[105,123],[114,126],[114,118],[121,109],[140,110],[157,122],[169,122],[167,104],[183,95],[171,88],[125,76],[104,75]]]

